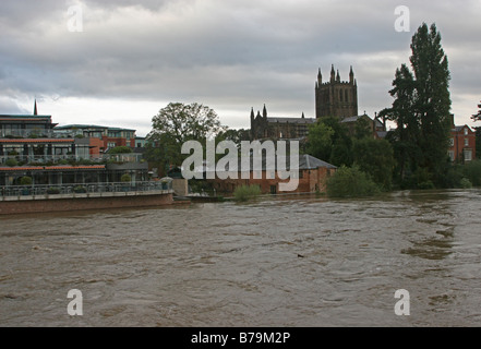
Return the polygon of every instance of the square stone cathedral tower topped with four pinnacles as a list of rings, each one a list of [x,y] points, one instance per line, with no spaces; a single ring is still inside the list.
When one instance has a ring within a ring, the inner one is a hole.
[[[340,81],[339,71],[330,68],[330,80],[323,83],[321,69],[315,83],[315,117],[337,117],[340,120],[358,116],[358,84],[352,67],[349,81]]]

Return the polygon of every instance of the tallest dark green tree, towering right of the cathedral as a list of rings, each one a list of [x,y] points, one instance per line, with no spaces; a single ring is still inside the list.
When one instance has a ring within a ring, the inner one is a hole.
[[[400,178],[406,172],[426,173],[443,182],[450,128],[449,70],[435,24],[423,23],[413,35],[410,57],[396,71],[393,107],[381,116],[397,123],[393,137]]]

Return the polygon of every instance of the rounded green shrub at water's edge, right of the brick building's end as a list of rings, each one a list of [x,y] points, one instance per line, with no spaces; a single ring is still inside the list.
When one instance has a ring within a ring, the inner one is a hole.
[[[326,191],[330,197],[372,196],[381,192],[376,183],[357,166],[341,166],[327,180]]]

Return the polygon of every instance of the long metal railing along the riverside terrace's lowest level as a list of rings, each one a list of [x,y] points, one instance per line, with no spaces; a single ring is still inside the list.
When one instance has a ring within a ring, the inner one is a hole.
[[[33,184],[33,185],[5,185],[0,186],[0,197],[9,196],[48,196],[92,193],[125,193],[125,192],[153,192],[171,190],[171,183],[161,181],[139,182],[94,182],[69,184]]]

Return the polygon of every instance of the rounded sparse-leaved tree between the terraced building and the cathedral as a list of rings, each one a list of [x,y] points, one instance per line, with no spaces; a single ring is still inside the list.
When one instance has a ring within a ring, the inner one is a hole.
[[[196,103],[170,103],[152,119],[152,128],[145,158],[165,171],[182,164],[184,142],[205,142],[226,129],[213,109]]]

